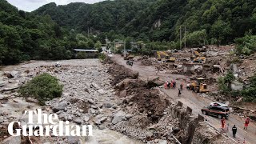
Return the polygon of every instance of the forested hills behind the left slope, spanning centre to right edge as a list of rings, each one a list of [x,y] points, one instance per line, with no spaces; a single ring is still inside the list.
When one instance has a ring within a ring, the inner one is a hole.
[[[186,26],[187,37],[192,38],[188,45],[194,46],[202,42],[228,44],[245,34],[255,34],[255,7],[253,0],[116,0],[93,5],[50,3],[34,13],[50,14],[61,26],[85,32],[88,28],[114,30],[144,41],[177,41],[180,26],[182,34]]]

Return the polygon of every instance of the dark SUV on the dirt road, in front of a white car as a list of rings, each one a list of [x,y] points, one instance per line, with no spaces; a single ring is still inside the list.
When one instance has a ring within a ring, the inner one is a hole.
[[[226,106],[207,106],[202,108],[201,111],[202,114],[208,114],[218,118],[228,118],[230,114],[230,109]]]

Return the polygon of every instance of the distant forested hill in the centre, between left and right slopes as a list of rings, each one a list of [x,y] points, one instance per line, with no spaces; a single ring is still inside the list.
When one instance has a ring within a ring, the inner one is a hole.
[[[117,0],[95,4],[82,2],[56,6],[49,3],[34,14],[49,14],[60,26],[87,32],[119,31],[155,0]]]

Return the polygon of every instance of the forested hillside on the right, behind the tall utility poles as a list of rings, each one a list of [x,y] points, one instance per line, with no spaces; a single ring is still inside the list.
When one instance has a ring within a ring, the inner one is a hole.
[[[254,0],[160,0],[127,25],[123,32],[151,40],[175,40],[180,26],[188,33],[206,30],[209,43],[226,44],[256,33]],[[155,22],[161,26],[154,27]],[[128,33],[127,33],[128,32]]]

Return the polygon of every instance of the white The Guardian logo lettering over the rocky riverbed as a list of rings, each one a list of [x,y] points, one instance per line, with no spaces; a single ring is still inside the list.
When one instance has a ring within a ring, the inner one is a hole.
[[[57,114],[42,114],[42,110],[26,110],[28,123],[21,126],[21,122],[10,122],[8,132],[12,136],[93,136],[91,125],[70,125],[69,121],[58,121]],[[34,117],[37,115],[37,122]],[[18,123],[18,126],[17,126]],[[15,128],[14,128],[15,127]],[[18,128],[16,128],[18,127]],[[88,134],[87,134],[88,132]]]

